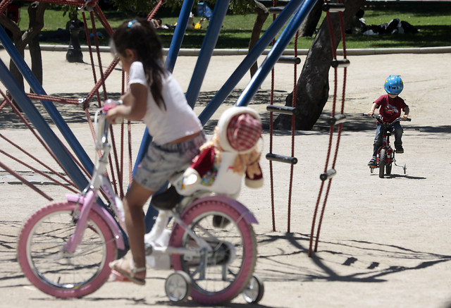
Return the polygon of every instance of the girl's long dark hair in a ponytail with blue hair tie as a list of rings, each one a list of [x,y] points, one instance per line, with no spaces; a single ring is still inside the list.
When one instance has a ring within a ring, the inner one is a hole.
[[[142,62],[150,92],[160,109],[166,110],[162,90],[161,75],[163,68],[163,47],[154,27],[144,18],[126,21],[118,27],[113,35],[113,44],[117,54],[125,55],[125,49],[137,53],[137,61]]]

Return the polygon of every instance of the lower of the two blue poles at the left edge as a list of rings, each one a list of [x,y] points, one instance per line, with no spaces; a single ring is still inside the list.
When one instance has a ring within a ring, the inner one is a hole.
[[[80,190],[84,189],[88,183],[87,179],[70,157],[70,154],[67,152],[66,147],[61,144],[61,140],[59,140],[53,130],[49,128],[47,122],[44,120],[44,118],[42,118],[35,105],[32,104],[30,98],[27,97],[27,94],[25,94],[23,89],[18,85],[18,82],[16,81],[16,79],[14,79],[14,76],[11,74],[8,68],[6,68],[5,63],[1,60],[0,80],[11,93],[16,103],[27,114],[30,122],[35,125],[36,130],[39,132],[39,134],[41,134],[42,138],[47,143],[51,151],[54,152],[55,156],[58,158],[58,161],[61,162],[64,170],[74,181],[75,185],[77,185]]]

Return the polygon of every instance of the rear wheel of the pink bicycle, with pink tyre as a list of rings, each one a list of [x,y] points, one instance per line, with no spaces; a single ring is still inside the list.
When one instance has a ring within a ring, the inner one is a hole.
[[[212,251],[203,257],[173,254],[173,269],[190,275],[190,296],[196,302],[218,304],[233,300],[247,287],[254,273],[257,240],[252,225],[227,202],[211,199],[195,204],[182,219],[209,243]],[[180,225],[174,227],[170,246],[198,248]]]

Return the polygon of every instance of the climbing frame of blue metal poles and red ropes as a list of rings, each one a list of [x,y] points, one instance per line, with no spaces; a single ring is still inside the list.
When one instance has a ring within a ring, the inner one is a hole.
[[[0,13],[3,12],[8,5],[10,1],[3,0],[0,2]],[[16,63],[16,66],[19,68],[20,72],[23,74],[25,80],[30,84],[30,87],[32,88],[32,94],[25,94],[23,90],[18,87],[16,80],[12,77],[11,73],[9,72],[8,68],[4,65],[2,61],[0,61],[0,80],[4,83],[6,88],[8,89],[8,93],[11,94],[12,99],[16,101],[20,109],[22,109],[26,114],[27,117],[30,119],[30,122],[32,125],[35,126],[36,130],[39,132],[40,135],[42,135],[42,144],[44,144],[45,147],[49,149],[49,152],[52,153],[52,155],[55,156],[56,161],[58,161],[59,164],[61,164],[61,167],[63,170],[68,174],[69,178],[65,178],[68,183],[72,183],[76,187],[78,187],[79,190],[82,190],[88,183],[90,174],[92,174],[94,165],[85,153],[85,150],[80,145],[80,142],[78,142],[75,135],[73,135],[72,131],[68,127],[67,123],[62,118],[61,114],[58,112],[58,109],[53,104],[53,102],[56,103],[66,103],[66,104],[74,104],[83,106],[85,113],[87,115],[87,121],[89,125],[92,128],[91,118],[89,116],[89,104],[92,103],[92,100],[94,97],[97,97],[97,104],[99,107],[101,106],[101,101],[105,101],[108,99],[108,94],[106,91],[105,86],[105,80],[106,78],[109,78],[109,75],[112,73],[113,69],[116,67],[116,64],[118,63],[118,59],[114,59],[112,63],[106,68],[106,70],[102,69],[101,65],[101,56],[100,56],[100,47],[99,47],[99,40],[97,37],[97,30],[96,30],[96,24],[95,24],[95,18],[99,20],[99,22],[104,25],[106,32],[108,32],[109,35],[113,34],[113,29],[108,23],[108,20],[106,20],[104,14],[101,12],[101,9],[99,8],[99,5],[97,4],[96,0],[88,0],[88,1],[79,1],[79,0],[49,0],[49,1],[42,1],[42,2],[49,2],[49,3],[57,3],[57,4],[70,4],[74,6],[80,7],[80,12],[82,13],[83,22],[85,24],[85,27],[88,25],[87,18],[90,18],[91,20],[91,28],[92,33],[94,34],[94,46],[92,46],[92,41],[89,38],[89,32],[87,32],[87,44],[89,47],[89,56],[92,66],[92,72],[94,77],[94,87],[92,90],[87,93],[85,97],[82,97],[80,99],[67,99],[63,97],[51,97],[47,95],[47,93],[44,91],[42,86],[37,82],[37,79],[35,76],[31,73],[30,68],[28,68],[27,64],[23,60],[22,56],[18,54],[18,51],[13,46],[13,43],[11,42],[11,39],[9,39],[8,35],[6,35],[6,32],[3,30],[3,28],[0,27],[0,41],[4,45],[4,48],[8,52],[8,54],[11,56],[13,61]],[[149,16],[147,17],[148,20],[152,19],[156,11],[158,11],[158,8],[161,7],[164,4],[164,0],[159,1],[159,4],[154,8],[154,10],[149,13]],[[243,61],[240,63],[239,66],[234,70],[234,72],[230,75],[230,78],[224,83],[224,85],[216,92],[216,95],[211,99],[209,104],[206,106],[206,108],[202,111],[199,118],[203,124],[206,123],[206,121],[209,120],[209,118],[214,114],[214,112],[218,109],[218,107],[221,105],[221,103],[228,97],[230,92],[234,89],[234,87],[237,85],[237,83],[242,79],[242,77],[247,73],[249,68],[252,66],[252,64],[257,60],[261,54],[265,51],[266,47],[271,44],[271,41],[278,35],[280,30],[283,30],[283,32],[278,37],[277,41],[273,44],[273,47],[271,48],[271,51],[268,52],[268,55],[266,56],[265,61],[261,64],[257,72],[254,74],[252,80],[249,82],[245,90],[243,90],[242,94],[240,95],[239,99],[237,99],[236,105],[237,106],[247,106],[249,104],[249,101],[254,97],[254,94],[257,93],[259,88],[261,87],[262,82],[264,79],[268,76],[268,74],[271,72],[272,68],[275,66],[275,64],[283,58],[281,56],[283,55],[283,51],[285,51],[286,47],[288,46],[290,40],[292,37],[295,36],[297,30],[299,29],[299,26],[301,25],[302,21],[307,17],[309,11],[311,8],[313,8],[314,4],[316,3],[315,0],[292,0],[289,1],[288,4],[280,10],[280,13],[278,14],[277,18],[274,19],[274,22],[271,24],[270,27],[264,32],[264,34],[259,39],[259,42],[249,51],[247,56],[243,59]],[[168,56],[166,58],[166,67],[168,70],[173,70],[175,68],[175,62],[178,57],[178,53],[180,51],[181,42],[183,39],[183,35],[185,33],[186,25],[188,18],[190,16],[190,12],[192,11],[192,7],[194,4],[194,0],[185,0],[183,2],[183,6],[180,10],[180,16],[178,19],[178,25],[180,27],[175,28],[175,32],[173,35],[173,41],[171,42],[171,46],[168,51]],[[206,68],[209,65],[209,60],[213,54],[214,47],[216,45],[216,41],[219,35],[219,32],[221,30],[221,25],[223,23],[223,18],[226,15],[227,9],[228,9],[229,1],[217,1],[216,6],[214,7],[213,14],[211,16],[211,20],[209,22],[208,30],[206,31],[206,35],[204,38],[204,42],[202,43],[202,48],[200,49],[199,56],[197,58],[196,66],[194,67],[191,79],[190,85],[188,87],[186,97],[187,101],[190,104],[190,106],[194,107],[194,104],[197,101],[197,97],[199,95],[200,87],[202,85],[202,82],[204,80],[204,75],[206,72]],[[344,4],[340,3],[328,3],[326,1],[325,9],[327,11],[328,18],[330,20],[330,13],[338,13],[340,15],[340,27],[343,27],[342,25],[342,11],[344,11],[345,6]],[[331,22],[330,27],[332,27]],[[285,26],[286,25],[286,26]],[[285,28],[284,28],[285,27]],[[87,31],[87,28],[85,29]],[[332,31],[331,31],[332,32]],[[349,61],[346,59],[345,54],[345,42],[344,42],[344,29],[342,29],[342,43],[343,43],[343,50],[344,50],[344,59],[338,60],[337,55],[335,53],[335,50],[333,50],[333,63],[332,66],[334,68],[335,73],[335,80],[337,80],[337,70],[338,68],[344,68],[344,75],[346,75],[346,67],[349,65]],[[331,37],[333,39],[333,37]],[[332,44],[332,46],[335,46],[335,44]],[[97,64],[94,63],[94,55],[97,54]],[[290,60],[296,62],[297,60]],[[99,71],[99,78],[97,77],[97,67]],[[296,75],[296,72],[295,72]],[[194,77],[195,76],[195,77]],[[296,78],[296,77],[295,77]],[[125,83],[125,82],[123,82]],[[102,88],[104,97],[101,97],[99,94],[99,89]],[[11,97],[8,97],[8,94],[1,92],[1,95],[4,97],[4,101],[0,103],[0,110],[4,108],[4,106],[9,105],[13,106]],[[295,95],[294,95],[295,97]],[[316,245],[315,250],[317,247],[318,239],[319,239],[319,231],[321,228],[321,221],[323,216],[324,207],[326,206],[326,201],[328,197],[328,190],[330,188],[330,183],[333,178],[333,175],[335,175],[335,160],[337,157],[338,152],[338,145],[340,143],[340,133],[341,133],[341,125],[342,122],[345,121],[345,116],[343,115],[344,111],[344,101],[345,101],[345,78],[344,78],[344,85],[342,90],[342,106],[340,113],[335,113],[335,100],[337,97],[337,84],[335,81],[335,89],[333,91],[333,113],[330,118],[330,141],[329,141],[329,147],[328,147],[328,157],[326,159],[326,166],[324,168],[323,173],[321,173],[321,188],[319,192],[319,198],[318,202],[316,204],[316,208],[314,211],[314,219],[312,223],[312,232],[311,232],[311,241],[314,238],[314,226],[316,222],[316,213],[319,208],[319,201],[321,194],[323,192],[323,185],[328,181],[328,187],[326,189],[326,196],[323,199],[323,208],[321,210],[321,217],[319,220],[319,226],[317,228],[316,233]],[[60,130],[61,135],[63,135],[63,138],[66,140],[68,146],[70,149],[66,148],[66,146],[61,142],[61,140],[56,137],[56,134],[49,128],[49,124],[44,120],[42,115],[37,111],[34,104],[32,104],[31,99],[38,99],[41,101],[44,108],[47,110],[47,113],[49,113],[49,116],[51,117],[51,120],[54,121],[56,124],[56,127],[58,130]],[[14,109],[14,107],[11,107]],[[295,106],[292,106],[293,109],[285,109],[283,107],[270,107],[272,111],[274,109],[278,109],[278,111],[285,111],[294,113]],[[16,110],[17,111],[17,110]],[[16,112],[18,113],[18,112]],[[20,114],[20,113],[18,113]],[[293,116],[294,118],[294,116]],[[338,125],[338,137],[336,142],[336,149],[335,149],[335,156],[333,157],[332,166],[329,166],[329,156],[331,153],[331,144],[332,139],[334,135],[334,129],[335,125]],[[292,125],[294,127],[294,125]],[[130,128],[130,123],[124,123],[121,128],[121,136],[125,134],[125,128]],[[113,131],[111,130],[111,134],[113,134]],[[35,133],[37,135],[37,133]],[[92,135],[93,140],[95,139],[94,136],[94,130],[92,129]],[[130,131],[128,131],[128,135],[130,136]],[[39,137],[40,138],[40,137]],[[147,149],[147,144],[150,142],[150,138],[147,131],[144,132],[141,147],[137,155],[137,160],[135,166],[137,166],[137,162],[139,162],[144,155],[145,149]],[[116,193],[122,197],[123,196],[123,172],[121,170],[123,169],[123,146],[125,139],[121,138],[121,149],[116,149],[116,147],[113,145],[113,160],[110,161],[110,176],[111,181],[113,183],[118,183],[118,187],[115,189],[117,190]],[[115,137],[114,135],[111,135],[111,142],[115,144]],[[74,154],[72,154],[73,152]],[[130,148],[130,142],[129,142],[129,149],[128,152],[131,152]],[[276,156],[277,157],[277,156]],[[278,156],[281,160],[287,160],[283,158],[283,156]],[[293,157],[293,154],[291,154],[290,164],[294,165],[296,159]],[[121,159],[119,159],[121,158]],[[273,161],[276,159],[273,159]],[[2,164],[4,165],[4,164]],[[131,166],[132,162],[128,161],[128,165]],[[116,167],[113,168],[113,167]],[[130,177],[132,176],[133,171],[131,171],[132,168],[130,168]],[[116,175],[118,175],[118,178],[116,178]],[[292,177],[292,175],[291,175]],[[69,186],[68,186],[69,187]],[[291,192],[290,192],[291,193]],[[103,202],[100,201],[100,204],[102,206],[106,206],[103,204]],[[152,207],[149,207],[149,211],[146,215],[146,223],[147,223],[147,231],[152,228],[153,225],[153,217],[156,216],[155,211],[152,210]],[[289,214],[290,216],[290,214]],[[312,251],[312,245],[310,244],[309,249],[309,255]]]

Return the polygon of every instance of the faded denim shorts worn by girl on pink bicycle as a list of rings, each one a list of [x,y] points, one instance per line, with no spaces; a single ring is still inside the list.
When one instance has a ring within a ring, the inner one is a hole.
[[[196,137],[179,143],[155,144],[151,142],[147,153],[138,164],[135,180],[148,190],[156,192],[176,171],[191,164],[206,141],[202,131]]]

